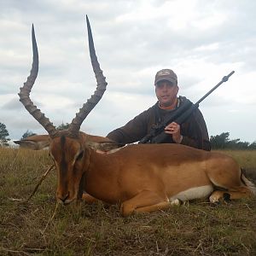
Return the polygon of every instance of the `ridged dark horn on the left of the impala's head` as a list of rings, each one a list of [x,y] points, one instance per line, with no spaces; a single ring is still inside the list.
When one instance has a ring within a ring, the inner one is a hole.
[[[34,26],[32,25],[32,50],[33,50],[33,62],[32,62],[32,70],[30,75],[27,77],[26,83],[24,83],[23,87],[20,87],[20,102],[24,105],[26,110],[32,114],[32,116],[38,120],[38,122],[44,126],[44,129],[48,131],[50,137],[55,137],[57,134],[57,130],[55,126],[50,123],[49,119],[44,116],[44,113],[41,112],[40,109],[37,108],[29,97],[29,94],[32,90],[32,86],[35,83],[35,80],[38,76],[38,45],[35,37]]]

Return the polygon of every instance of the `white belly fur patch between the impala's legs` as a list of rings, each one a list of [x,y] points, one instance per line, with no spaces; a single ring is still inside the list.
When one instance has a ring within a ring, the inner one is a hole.
[[[189,201],[193,199],[204,198],[211,195],[212,191],[213,191],[213,187],[211,185],[191,188],[191,189],[184,190],[178,193],[177,195],[173,195],[170,198],[170,201],[173,201],[175,199],[179,199],[181,201]]]

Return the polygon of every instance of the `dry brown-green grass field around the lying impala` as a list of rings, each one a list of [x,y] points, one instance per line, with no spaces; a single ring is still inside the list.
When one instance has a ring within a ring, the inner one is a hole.
[[[256,183],[256,151],[225,151]],[[122,218],[117,206],[55,202],[48,151],[0,148],[0,255],[256,255],[256,198],[193,201]]]

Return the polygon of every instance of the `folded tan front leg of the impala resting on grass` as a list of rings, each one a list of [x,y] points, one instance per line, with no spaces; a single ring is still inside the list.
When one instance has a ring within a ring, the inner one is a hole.
[[[170,201],[166,195],[160,196],[154,191],[145,189],[128,201],[124,201],[120,207],[122,216],[126,217],[132,212],[156,212],[170,207]]]

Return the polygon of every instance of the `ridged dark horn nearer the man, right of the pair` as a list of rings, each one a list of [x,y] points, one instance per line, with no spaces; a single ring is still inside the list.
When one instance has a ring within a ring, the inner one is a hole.
[[[69,126],[69,131],[71,131],[71,133],[76,133],[77,131],[80,130],[80,126],[82,125],[84,119],[87,117],[90,111],[96,106],[96,104],[101,100],[108,84],[106,82],[106,78],[102,74],[100,64],[97,61],[96,52],[93,44],[93,38],[90,29],[90,22],[88,20],[87,15],[86,23],[88,30],[90,61],[93,67],[93,71],[96,75],[97,86],[94,94],[90,96],[90,99],[88,99],[86,103],[84,103],[83,108],[79,109],[79,113],[76,113],[76,117],[72,120],[72,123]]]

